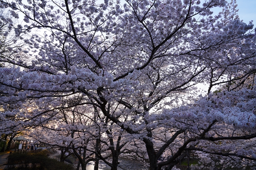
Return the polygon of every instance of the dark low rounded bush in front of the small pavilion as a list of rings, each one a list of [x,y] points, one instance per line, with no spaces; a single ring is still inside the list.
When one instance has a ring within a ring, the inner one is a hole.
[[[15,152],[8,156],[8,165],[5,170],[73,170],[72,165],[59,162],[47,157],[47,153]]]

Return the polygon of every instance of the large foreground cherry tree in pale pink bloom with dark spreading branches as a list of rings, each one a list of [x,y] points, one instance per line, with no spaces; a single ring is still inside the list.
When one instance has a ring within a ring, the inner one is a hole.
[[[256,71],[256,36],[252,22],[239,20],[235,2],[0,0],[0,6],[20,20],[12,28],[29,48],[0,68],[2,115],[15,115],[12,124],[49,122],[54,129],[61,110],[84,106],[97,110],[84,111],[91,120],[100,115],[109,137],[114,127],[122,144],[133,139],[126,150],[146,159],[149,170],[172,169],[195,151],[255,161],[255,86],[242,84]],[[223,8],[217,16],[215,7]],[[221,86],[227,89],[216,92]],[[6,109],[10,104],[17,109]],[[108,142],[112,154],[119,151],[118,142]]]

